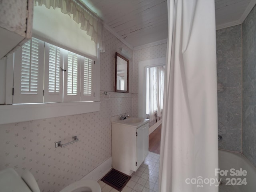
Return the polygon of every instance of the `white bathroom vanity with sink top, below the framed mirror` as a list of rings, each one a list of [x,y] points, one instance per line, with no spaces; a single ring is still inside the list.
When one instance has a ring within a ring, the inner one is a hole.
[[[149,119],[127,118],[112,122],[112,167],[131,175],[148,155]]]

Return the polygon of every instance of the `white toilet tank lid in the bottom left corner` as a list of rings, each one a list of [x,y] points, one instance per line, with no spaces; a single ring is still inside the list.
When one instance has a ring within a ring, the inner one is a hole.
[[[30,188],[13,168],[0,171],[0,189],[1,191],[31,192]]]

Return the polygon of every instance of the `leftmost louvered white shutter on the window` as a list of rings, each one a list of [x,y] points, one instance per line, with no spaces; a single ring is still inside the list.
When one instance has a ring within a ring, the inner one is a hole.
[[[43,102],[44,42],[28,40],[14,54],[13,103]]]

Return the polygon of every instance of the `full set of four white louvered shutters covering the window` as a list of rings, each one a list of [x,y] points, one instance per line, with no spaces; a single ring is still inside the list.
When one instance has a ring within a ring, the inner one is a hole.
[[[95,61],[32,38],[14,53],[13,104],[94,101]]]

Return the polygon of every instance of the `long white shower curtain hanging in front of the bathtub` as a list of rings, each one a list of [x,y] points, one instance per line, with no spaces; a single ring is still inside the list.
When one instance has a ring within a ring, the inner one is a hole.
[[[214,0],[168,0],[159,192],[218,192]]]

